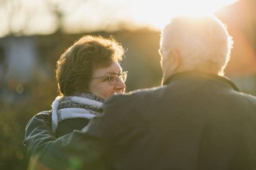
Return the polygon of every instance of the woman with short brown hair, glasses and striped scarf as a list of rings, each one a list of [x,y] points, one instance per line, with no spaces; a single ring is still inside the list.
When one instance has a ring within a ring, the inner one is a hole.
[[[40,112],[26,127],[24,142],[30,154],[39,149],[40,142],[54,140],[40,130],[44,125],[39,118],[51,122],[56,137],[63,136],[84,128],[100,114],[102,102],[110,95],[124,93],[127,71],[122,72],[119,65],[123,54],[123,47],[114,39],[84,36],[61,55],[56,70],[60,95],[51,111]]]

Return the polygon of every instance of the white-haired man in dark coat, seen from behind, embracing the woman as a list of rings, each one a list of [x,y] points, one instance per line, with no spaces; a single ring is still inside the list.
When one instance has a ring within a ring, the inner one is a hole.
[[[256,169],[256,97],[224,77],[231,46],[216,17],[175,17],[161,34],[162,86],[110,97],[57,139],[36,115],[28,151],[49,169]]]

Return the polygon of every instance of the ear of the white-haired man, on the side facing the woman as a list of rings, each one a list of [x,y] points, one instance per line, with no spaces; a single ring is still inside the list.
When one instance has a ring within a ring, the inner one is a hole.
[[[181,54],[179,50],[173,49],[168,52],[167,56],[162,58],[162,71],[163,71],[163,79],[167,79],[173,73],[176,73],[181,66]]]

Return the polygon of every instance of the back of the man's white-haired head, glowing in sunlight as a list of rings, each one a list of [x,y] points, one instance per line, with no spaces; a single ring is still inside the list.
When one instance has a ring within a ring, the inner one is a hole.
[[[216,17],[174,17],[161,34],[164,75],[181,71],[224,75],[231,48],[232,38]]]

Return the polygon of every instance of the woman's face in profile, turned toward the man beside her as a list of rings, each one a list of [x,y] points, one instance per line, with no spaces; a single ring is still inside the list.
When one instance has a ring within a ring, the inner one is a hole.
[[[120,74],[121,72],[122,68],[117,61],[109,67],[95,69],[92,72],[92,81],[89,85],[90,92],[103,99],[106,99],[115,93],[124,93],[125,83],[121,79],[116,82],[114,81],[112,85],[110,85],[108,81],[108,76]]]

